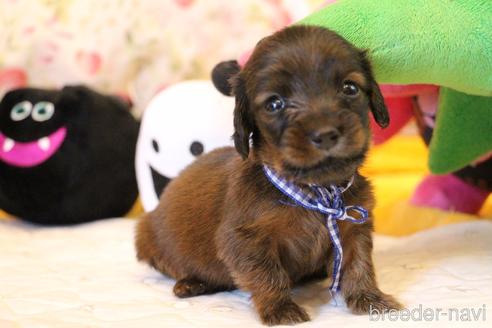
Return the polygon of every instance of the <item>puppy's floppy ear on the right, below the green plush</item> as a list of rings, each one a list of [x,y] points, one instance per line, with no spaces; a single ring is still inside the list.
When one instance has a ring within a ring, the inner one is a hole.
[[[381,90],[379,89],[379,86],[374,79],[371,64],[367,59],[366,51],[361,51],[360,60],[369,83],[368,96],[372,115],[374,116],[374,120],[376,121],[376,123],[378,123],[380,127],[386,128],[390,122],[388,109],[386,108],[386,105],[384,103],[384,98],[381,94]]]

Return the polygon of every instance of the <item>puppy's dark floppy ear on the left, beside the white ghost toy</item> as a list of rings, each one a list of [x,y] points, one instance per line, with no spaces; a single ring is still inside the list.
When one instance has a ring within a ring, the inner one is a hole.
[[[249,99],[246,94],[246,86],[241,73],[230,79],[232,93],[236,97],[234,108],[234,146],[237,152],[246,159],[249,155],[249,140],[253,133],[254,123],[249,109]]]

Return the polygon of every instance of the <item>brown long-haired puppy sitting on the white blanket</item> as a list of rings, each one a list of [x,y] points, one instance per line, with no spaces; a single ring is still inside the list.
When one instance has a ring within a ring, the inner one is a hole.
[[[297,185],[343,185],[354,176],[345,204],[371,212],[371,186],[357,170],[370,141],[369,109],[381,126],[387,110],[364,52],[323,28],[289,27],[263,39],[232,86],[241,156],[215,150],[173,180],[138,224],[137,256],[175,278],[178,297],[237,287],[251,292],[265,324],[307,321],[291,288],[331,270],[326,217],[285,204],[262,166]],[[348,307],[400,308],[378,289],[370,220],[338,224]]]

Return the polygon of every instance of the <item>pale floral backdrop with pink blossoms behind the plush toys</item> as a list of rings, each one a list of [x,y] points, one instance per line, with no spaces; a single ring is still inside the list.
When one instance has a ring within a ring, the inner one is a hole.
[[[207,78],[321,0],[0,0],[0,97],[84,83],[136,113],[169,84]]]

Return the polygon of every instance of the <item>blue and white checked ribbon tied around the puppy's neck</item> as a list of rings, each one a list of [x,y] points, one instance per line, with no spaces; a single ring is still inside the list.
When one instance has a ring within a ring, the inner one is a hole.
[[[343,188],[335,185],[324,187],[310,184],[308,185],[309,191],[306,192],[296,184],[279,176],[275,171],[266,165],[263,165],[263,171],[265,172],[268,180],[270,180],[270,182],[278,190],[294,201],[294,204],[292,205],[301,206],[308,210],[317,211],[326,215],[326,227],[328,228],[335,255],[330,292],[339,292],[340,278],[342,274],[343,249],[337,220],[361,224],[366,222],[369,217],[368,212],[361,206],[344,206],[342,193],[350,188],[354,177],[352,177]],[[360,218],[357,219],[350,216],[348,211],[359,213]]]

